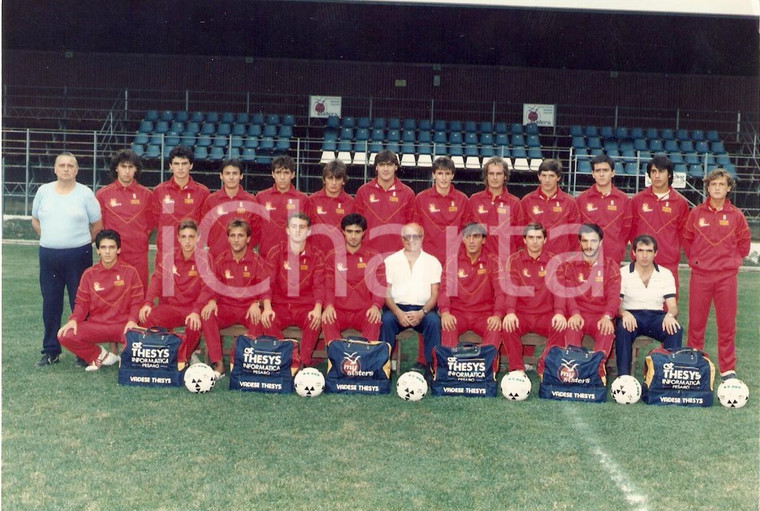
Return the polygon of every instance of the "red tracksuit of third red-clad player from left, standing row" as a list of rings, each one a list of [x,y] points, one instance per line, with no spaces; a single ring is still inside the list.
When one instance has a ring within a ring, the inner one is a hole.
[[[255,205],[258,209],[258,202],[256,198],[243,190],[238,189],[238,192],[234,197],[227,195],[224,189],[216,191],[208,196],[203,203],[203,215],[202,218],[206,218],[206,215],[213,215],[215,220],[211,224],[210,231],[205,229],[205,223],[201,229],[201,243],[203,246],[208,246],[208,252],[212,258],[219,257],[223,252],[229,250],[230,245],[227,241],[227,225],[240,218],[248,222],[251,226],[251,244],[253,248],[259,244],[259,238],[261,236],[259,222],[261,217],[255,212],[251,211],[251,206]],[[210,220],[206,220],[207,222]]]

